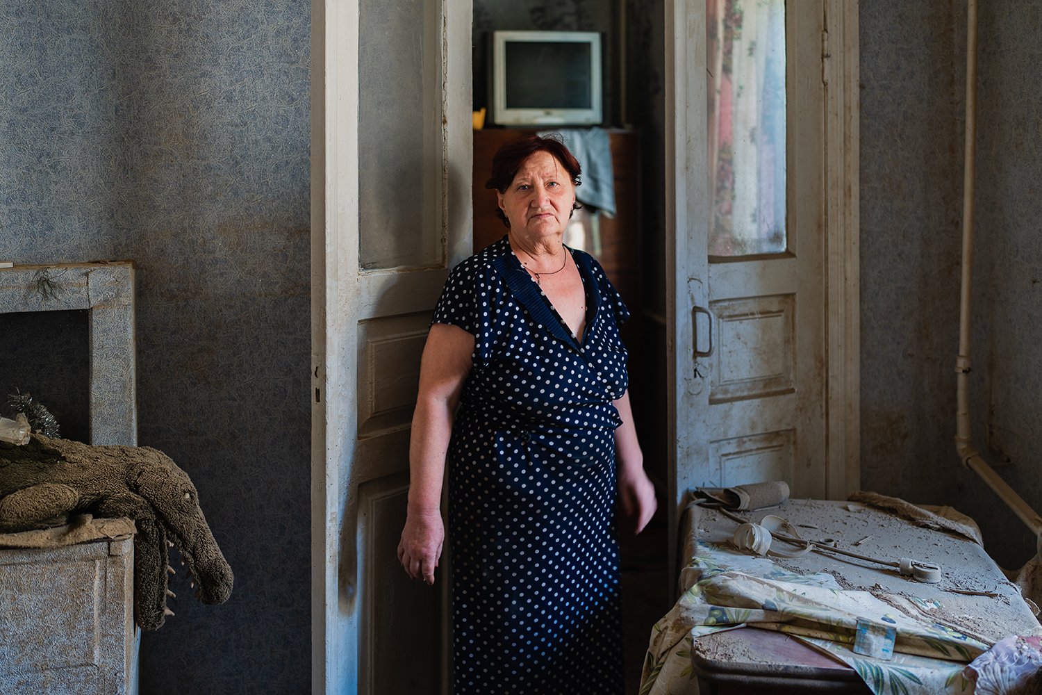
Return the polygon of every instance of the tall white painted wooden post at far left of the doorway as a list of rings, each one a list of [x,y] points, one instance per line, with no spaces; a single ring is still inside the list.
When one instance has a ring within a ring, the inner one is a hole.
[[[341,538],[357,417],[358,2],[312,0],[312,692],[354,693]],[[336,127],[329,127],[336,124]],[[348,243],[348,241],[354,243]],[[346,607],[346,605],[345,605]]]

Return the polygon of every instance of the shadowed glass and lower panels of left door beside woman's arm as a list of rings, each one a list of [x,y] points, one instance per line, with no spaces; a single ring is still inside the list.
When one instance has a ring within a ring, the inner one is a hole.
[[[449,228],[442,185],[448,123],[437,88],[444,77],[442,17],[451,5],[358,6],[357,409],[349,483],[357,491],[357,521],[345,543],[358,548],[359,693],[440,693],[447,675],[440,646],[444,569],[435,588],[411,581],[396,548],[420,355],[451,256],[448,242],[466,234]]]

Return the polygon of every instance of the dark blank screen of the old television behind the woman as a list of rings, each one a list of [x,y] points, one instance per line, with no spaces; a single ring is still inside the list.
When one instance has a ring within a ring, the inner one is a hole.
[[[591,108],[587,42],[507,41],[507,108]]]

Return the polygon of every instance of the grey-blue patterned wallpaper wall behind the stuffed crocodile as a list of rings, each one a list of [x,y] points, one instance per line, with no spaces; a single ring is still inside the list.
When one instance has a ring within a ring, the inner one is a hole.
[[[0,259],[134,262],[140,443],[235,572],[221,606],[172,580],[150,695],[311,688],[309,30],[279,0],[0,0]]]

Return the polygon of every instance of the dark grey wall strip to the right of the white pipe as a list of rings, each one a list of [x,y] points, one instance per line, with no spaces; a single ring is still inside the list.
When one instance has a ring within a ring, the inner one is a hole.
[[[978,22],[974,435],[1042,512],[1042,6],[981,3]],[[988,491],[978,503],[996,508],[978,516],[995,553],[1019,566],[1035,540],[994,499]]]

